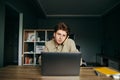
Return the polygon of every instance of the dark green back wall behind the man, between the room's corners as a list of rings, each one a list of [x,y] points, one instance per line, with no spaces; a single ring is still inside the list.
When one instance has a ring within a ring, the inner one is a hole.
[[[53,28],[58,22],[65,22],[75,34],[75,42],[81,47],[82,57],[95,62],[96,53],[101,51],[102,21],[100,17],[57,17],[40,19],[38,28]]]

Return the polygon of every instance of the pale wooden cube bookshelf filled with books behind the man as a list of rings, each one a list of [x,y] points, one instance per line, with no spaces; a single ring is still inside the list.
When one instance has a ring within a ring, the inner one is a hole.
[[[25,29],[23,32],[23,65],[39,65],[45,42],[53,37],[53,29]]]

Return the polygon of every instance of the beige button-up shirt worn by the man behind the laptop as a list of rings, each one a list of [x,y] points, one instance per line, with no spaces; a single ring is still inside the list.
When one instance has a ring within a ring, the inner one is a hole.
[[[45,52],[79,52],[72,39],[66,39],[61,45],[56,45],[54,39],[45,43]]]

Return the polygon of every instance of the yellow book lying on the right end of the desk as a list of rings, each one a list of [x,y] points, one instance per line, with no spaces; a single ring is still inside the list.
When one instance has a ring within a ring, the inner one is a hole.
[[[96,71],[97,75],[98,75],[98,73],[105,74],[106,76],[120,74],[119,71],[112,69],[110,67],[95,67],[93,69]]]

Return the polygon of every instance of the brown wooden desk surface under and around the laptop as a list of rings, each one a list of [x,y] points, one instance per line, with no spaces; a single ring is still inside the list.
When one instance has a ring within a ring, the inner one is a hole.
[[[42,76],[40,67],[7,66],[0,68],[1,80],[114,80],[105,75],[96,76],[92,67],[81,67],[80,76]]]

